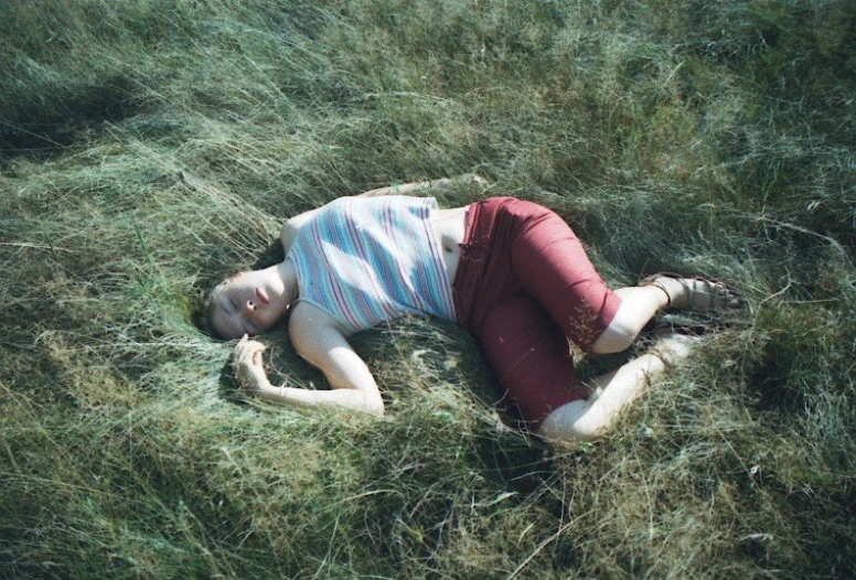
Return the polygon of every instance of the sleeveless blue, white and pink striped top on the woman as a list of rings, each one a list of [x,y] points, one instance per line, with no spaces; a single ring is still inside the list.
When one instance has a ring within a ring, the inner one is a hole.
[[[405,314],[454,322],[442,250],[431,225],[434,197],[341,197],[295,238],[299,300],[351,334]]]

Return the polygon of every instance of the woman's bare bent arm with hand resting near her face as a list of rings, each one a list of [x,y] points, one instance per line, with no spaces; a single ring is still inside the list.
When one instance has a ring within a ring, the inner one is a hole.
[[[341,332],[328,324],[327,314],[311,304],[295,307],[289,321],[292,344],[303,358],[324,374],[333,390],[275,387],[261,363],[265,346],[246,336],[235,350],[238,380],[258,398],[301,407],[338,407],[383,416],[381,390],[362,358]]]

